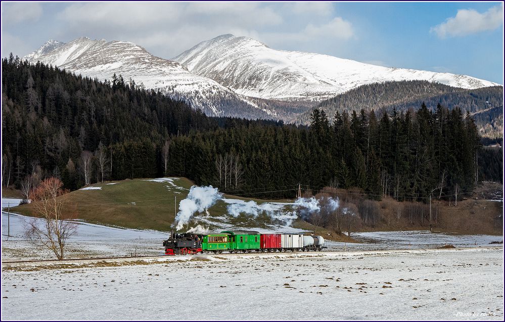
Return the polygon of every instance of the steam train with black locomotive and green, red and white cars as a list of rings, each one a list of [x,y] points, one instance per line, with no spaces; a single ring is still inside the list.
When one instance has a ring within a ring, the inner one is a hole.
[[[260,234],[255,231],[226,230],[219,234],[198,235],[191,233],[170,233],[163,242],[165,255],[234,252],[281,252],[281,251],[321,251],[325,239],[322,236],[303,234]]]

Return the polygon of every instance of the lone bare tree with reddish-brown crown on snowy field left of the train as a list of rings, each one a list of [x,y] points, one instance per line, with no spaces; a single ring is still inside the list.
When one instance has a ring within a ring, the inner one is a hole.
[[[57,178],[43,180],[30,194],[32,207],[40,218],[26,222],[26,235],[38,246],[46,247],[55,253],[58,259],[64,258],[65,245],[70,236],[75,234],[77,225],[71,221],[68,213],[66,190]]]

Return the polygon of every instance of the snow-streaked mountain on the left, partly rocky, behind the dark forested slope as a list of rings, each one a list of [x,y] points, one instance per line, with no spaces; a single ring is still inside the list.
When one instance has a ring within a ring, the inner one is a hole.
[[[23,59],[56,65],[100,80],[110,79],[114,73],[122,75],[126,81],[131,78],[137,85],[142,83],[146,88],[159,89],[171,97],[186,100],[209,116],[267,118],[270,114],[247,97],[237,95],[209,78],[192,74],[177,62],[155,57],[143,47],[127,41],[107,42],[81,37],[54,46],[53,50],[39,49]]]

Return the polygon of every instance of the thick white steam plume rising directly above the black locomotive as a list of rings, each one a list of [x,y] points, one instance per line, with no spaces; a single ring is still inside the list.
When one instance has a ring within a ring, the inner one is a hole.
[[[193,186],[186,199],[179,202],[179,212],[175,216],[175,229],[180,230],[189,223],[195,212],[206,211],[212,207],[217,200],[221,199],[222,193],[212,186],[197,187]]]

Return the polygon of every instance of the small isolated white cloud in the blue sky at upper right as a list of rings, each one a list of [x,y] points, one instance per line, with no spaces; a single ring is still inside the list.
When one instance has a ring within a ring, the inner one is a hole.
[[[440,38],[456,37],[494,30],[503,24],[503,4],[490,8],[484,13],[473,9],[461,9],[455,17],[448,18],[444,23],[432,27]]]

